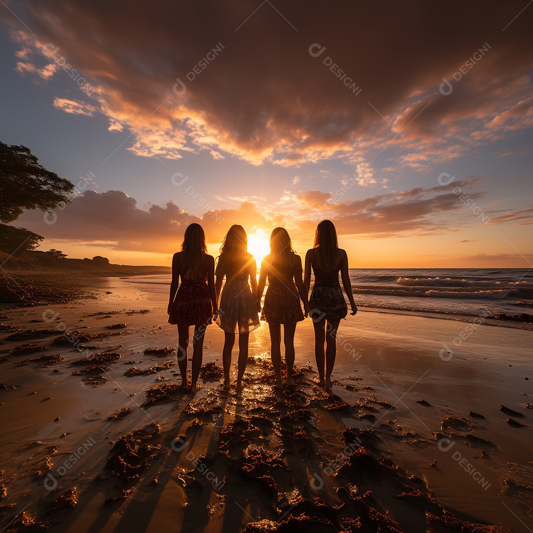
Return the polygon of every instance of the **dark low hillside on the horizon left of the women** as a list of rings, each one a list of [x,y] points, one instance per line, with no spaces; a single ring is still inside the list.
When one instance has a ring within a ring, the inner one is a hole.
[[[68,259],[67,257],[57,257],[50,252],[41,252],[38,250],[11,257],[8,254],[0,252],[0,262],[5,262],[3,264],[4,270],[11,272],[91,272],[100,275],[107,274],[108,276],[117,276],[124,273],[165,274],[171,272],[170,266],[117,265],[110,263],[107,257],[95,256],[93,259],[88,259],[87,257],[85,259]]]

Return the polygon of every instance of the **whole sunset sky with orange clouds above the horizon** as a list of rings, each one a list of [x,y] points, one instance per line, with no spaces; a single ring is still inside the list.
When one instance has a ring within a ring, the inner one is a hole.
[[[133,7],[132,7],[133,6]],[[169,264],[191,222],[258,259],[332,220],[350,268],[533,263],[533,5],[0,4],[0,140],[75,184],[41,248]]]

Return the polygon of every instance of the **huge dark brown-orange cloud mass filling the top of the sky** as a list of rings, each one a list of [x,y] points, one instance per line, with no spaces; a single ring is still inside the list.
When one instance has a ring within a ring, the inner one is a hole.
[[[74,0],[21,5],[33,33],[13,30],[19,72],[67,76],[41,51],[58,46],[94,80],[98,111],[136,130],[128,149],[139,156],[207,150],[214,158],[298,166],[367,160],[388,144],[398,167],[425,171],[427,161],[449,161],[532,125],[531,15],[516,17],[513,3],[490,10],[465,3],[459,21],[453,3],[390,2],[375,25],[368,24],[372,3],[330,4],[327,19],[298,3],[279,11],[264,3],[255,12],[248,3],[214,1],[202,10],[161,0],[135,10],[126,0],[112,9]],[[272,32],[276,38],[265,39]],[[315,53],[325,47],[320,55],[309,52],[315,43]],[[453,80],[485,43],[490,49]],[[453,80],[449,95],[439,92],[444,77]],[[176,78],[185,83],[182,94],[173,91]]]

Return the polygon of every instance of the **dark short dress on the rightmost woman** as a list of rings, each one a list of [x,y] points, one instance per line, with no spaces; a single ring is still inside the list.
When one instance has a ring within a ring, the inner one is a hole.
[[[314,285],[309,298],[312,318],[318,318],[317,311],[327,320],[341,320],[348,314],[348,305],[338,282],[340,270],[323,272],[316,266],[316,261],[313,262]],[[313,313],[313,310],[317,311]]]

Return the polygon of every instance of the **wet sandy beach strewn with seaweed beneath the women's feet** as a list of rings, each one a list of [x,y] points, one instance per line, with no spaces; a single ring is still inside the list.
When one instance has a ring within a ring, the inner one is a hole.
[[[363,306],[341,322],[330,394],[309,318],[296,386],[274,389],[263,322],[242,397],[221,389],[211,325],[192,395],[156,278],[3,311],[0,528],[530,531],[527,324]]]

